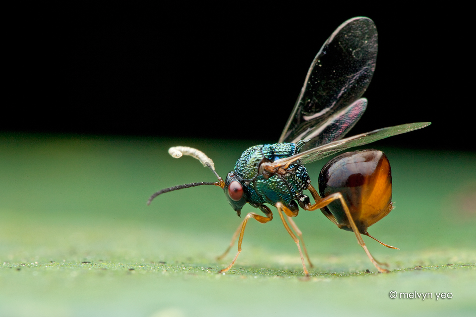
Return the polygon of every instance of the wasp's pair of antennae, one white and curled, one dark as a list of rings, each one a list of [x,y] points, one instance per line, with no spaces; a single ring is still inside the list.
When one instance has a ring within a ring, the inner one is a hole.
[[[169,188],[162,189],[156,193],[154,193],[152,196],[150,196],[149,200],[147,201],[147,206],[150,205],[152,200],[159,196],[160,194],[163,193],[168,193],[172,192],[174,190],[178,189],[183,189],[183,188],[189,188],[189,187],[195,187],[195,186],[200,186],[200,185],[215,185],[215,186],[220,186],[221,188],[225,187],[225,182],[223,179],[218,175],[218,173],[215,170],[215,164],[213,163],[213,160],[210,159],[205,155],[200,150],[190,148],[190,147],[172,147],[169,149],[169,154],[176,159],[179,159],[182,157],[182,155],[188,155],[192,158],[198,159],[200,163],[203,164],[203,166],[210,168],[210,170],[217,176],[218,182],[198,182],[198,183],[189,183],[189,184],[183,184],[183,185],[177,185]]]

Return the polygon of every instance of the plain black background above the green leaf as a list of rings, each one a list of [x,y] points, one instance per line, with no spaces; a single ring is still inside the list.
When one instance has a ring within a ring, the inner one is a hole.
[[[39,15],[8,32],[0,131],[274,142],[321,45],[363,15],[379,53],[350,135],[432,121],[392,145],[475,150],[474,28],[464,8],[432,10],[182,3]]]

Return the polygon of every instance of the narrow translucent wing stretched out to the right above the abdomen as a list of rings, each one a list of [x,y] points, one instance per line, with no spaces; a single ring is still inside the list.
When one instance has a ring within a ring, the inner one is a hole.
[[[413,130],[421,129],[430,124],[431,122],[407,123],[396,125],[393,127],[377,129],[362,134],[357,134],[349,138],[334,141],[323,146],[301,152],[289,158],[277,159],[274,162],[270,163],[270,165],[275,168],[278,168],[281,166],[287,166],[297,160],[300,160],[302,164],[310,163],[315,160],[323,159],[325,157],[333,155],[337,152],[347,150],[349,148],[372,143],[380,139],[391,137],[393,135],[398,135]]]

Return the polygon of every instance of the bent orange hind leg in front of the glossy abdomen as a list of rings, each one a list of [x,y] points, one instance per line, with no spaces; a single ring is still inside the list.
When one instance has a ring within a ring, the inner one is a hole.
[[[372,255],[370,254],[370,252],[368,251],[367,247],[365,246],[365,243],[363,242],[363,239],[362,239],[362,236],[360,235],[360,232],[358,231],[357,229],[357,226],[356,226],[356,223],[354,222],[354,219],[352,218],[352,215],[351,215],[351,211],[349,211],[349,207],[347,206],[346,202],[344,201],[344,198],[342,197],[342,194],[341,193],[335,193],[335,194],[331,194],[325,198],[320,198],[319,194],[317,193],[316,189],[312,186],[312,185],[309,185],[309,191],[311,192],[312,194],[312,197],[314,198],[315,200],[315,204],[314,205],[308,205],[306,206],[306,210],[308,211],[313,211],[313,210],[316,210],[316,209],[320,209],[320,208],[323,208],[323,207],[326,207],[327,205],[329,205],[330,203],[332,203],[333,201],[335,200],[339,200],[342,204],[342,207],[344,208],[344,211],[346,212],[346,215],[347,215],[347,218],[349,219],[349,223],[352,227],[352,230],[354,231],[354,233],[356,234],[356,238],[357,238],[357,242],[358,244],[363,248],[363,250],[365,251],[365,253],[367,254],[367,257],[370,259],[370,261],[373,263],[373,265],[375,265],[375,267],[380,271],[380,272],[388,272],[387,269],[385,268],[382,268],[380,267],[378,264],[379,262],[377,262],[373,257]],[[334,222],[335,224],[338,224],[337,221],[334,219],[331,219],[329,216],[327,216],[332,222]]]

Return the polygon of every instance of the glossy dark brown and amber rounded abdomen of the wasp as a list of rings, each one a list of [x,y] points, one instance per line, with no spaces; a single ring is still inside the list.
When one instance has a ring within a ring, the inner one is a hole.
[[[377,150],[362,150],[331,159],[319,175],[319,193],[327,197],[337,192],[344,197],[360,233],[366,233],[369,226],[393,208],[392,174],[385,154]],[[341,229],[352,231],[339,201],[326,208]]]

